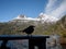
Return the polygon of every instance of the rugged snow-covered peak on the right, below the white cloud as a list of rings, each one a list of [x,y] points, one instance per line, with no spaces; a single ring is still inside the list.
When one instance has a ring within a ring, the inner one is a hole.
[[[44,13],[40,13],[37,19],[41,19],[44,22],[57,22],[58,21],[58,19],[56,19],[54,16],[50,16],[50,15],[44,14]]]

